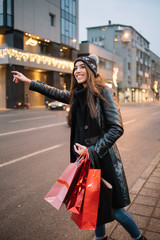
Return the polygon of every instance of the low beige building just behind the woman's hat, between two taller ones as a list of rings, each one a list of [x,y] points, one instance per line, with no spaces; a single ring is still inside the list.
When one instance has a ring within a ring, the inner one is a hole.
[[[113,54],[105,48],[94,43],[84,41],[80,44],[79,56],[88,56],[95,54],[99,58],[98,73],[101,74],[108,86],[116,90],[116,84],[123,81],[123,59]],[[115,73],[115,82],[113,82],[113,69]]]

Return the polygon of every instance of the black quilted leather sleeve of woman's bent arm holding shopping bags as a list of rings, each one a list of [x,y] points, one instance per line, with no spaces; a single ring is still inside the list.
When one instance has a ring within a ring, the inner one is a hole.
[[[89,152],[95,151],[100,158],[102,158],[110,149],[110,147],[117,141],[117,139],[123,134],[123,124],[120,109],[116,99],[116,94],[112,89],[106,88],[104,90],[104,96],[108,103],[102,101],[103,112],[103,134],[97,140],[95,145],[88,148]]]

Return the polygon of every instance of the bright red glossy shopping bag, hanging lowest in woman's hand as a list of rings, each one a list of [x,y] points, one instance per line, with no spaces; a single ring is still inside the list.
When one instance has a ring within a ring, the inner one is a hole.
[[[95,230],[100,196],[101,170],[89,169],[84,202],[80,214],[72,213],[71,219],[80,229]]]

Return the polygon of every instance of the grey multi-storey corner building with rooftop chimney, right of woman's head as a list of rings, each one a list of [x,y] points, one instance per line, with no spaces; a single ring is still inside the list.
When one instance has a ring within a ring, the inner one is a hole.
[[[88,41],[123,59],[123,81],[118,83],[120,102],[152,99],[149,42],[133,27],[120,24],[87,28]]]

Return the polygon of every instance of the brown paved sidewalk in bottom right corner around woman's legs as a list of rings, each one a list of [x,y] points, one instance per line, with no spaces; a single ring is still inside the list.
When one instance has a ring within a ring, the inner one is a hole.
[[[126,209],[142,234],[147,240],[160,240],[160,152],[130,189],[130,196],[132,203]],[[106,228],[108,240],[132,239],[116,221],[107,224]]]

